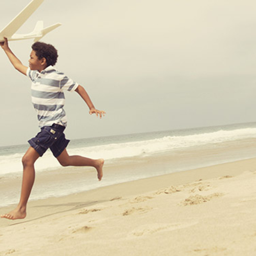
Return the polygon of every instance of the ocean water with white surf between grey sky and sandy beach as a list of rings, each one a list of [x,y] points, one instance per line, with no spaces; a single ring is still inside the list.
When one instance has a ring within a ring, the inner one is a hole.
[[[118,135],[72,140],[68,146],[70,155],[89,158],[104,158],[106,166],[115,166],[125,159],[157,159],[169,157],[168,164],[138,168],[129,172],[113,170],[104,174],[103,182],[97,182],[92,170],[88,170],[84,180],[72,178],[61,183],[51,180],[59,163],[48,151],[36,162],[36,173],[48,177],[48,182],[33,188],[31,199],[62,196],[79,191],[94,189],[115,183],[180,172],[186,169],[212,164],[252,158],[256,155],[256,122],[223,126],[200,127],[194,129],[170,130],[151,133]],[[21,181],[21,159],[28,145],[0,147],[0,188],[3,191],[0,206],[15,203],[19,198],[19,187],[10,186],[15,179]],[[65,172],[65,168],[61,172]],[[68,174],[80,172],[80,168],[68,169]],[[77,177],[77,176],[75,176]]]

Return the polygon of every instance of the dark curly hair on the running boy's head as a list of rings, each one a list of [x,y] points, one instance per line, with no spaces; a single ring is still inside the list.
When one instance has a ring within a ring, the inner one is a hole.
[[[45,42],[35,42],[32,45],[32,50],[38,59],[46,58],[47,67],[54,66],[57,62],[58,52],[54,46],[46,44]]]

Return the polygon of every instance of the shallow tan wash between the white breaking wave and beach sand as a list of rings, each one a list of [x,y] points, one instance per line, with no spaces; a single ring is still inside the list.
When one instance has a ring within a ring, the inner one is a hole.
[[[103,179],[98,182],[92,167],[56,167],[36,172],[30,202],[51,197],[62,197],[148,177],[180,173],[186,170],[230,163],[254,157],[255,143],[243,140],[188,148],[186,151],[162,152],[153,155],[127,157],[118,161],[105,161]],[[45,159],[40,159],[45,160]],[[19,200],[22,171],[1,179],[0,208],[16,204]]]

